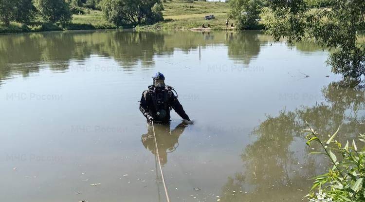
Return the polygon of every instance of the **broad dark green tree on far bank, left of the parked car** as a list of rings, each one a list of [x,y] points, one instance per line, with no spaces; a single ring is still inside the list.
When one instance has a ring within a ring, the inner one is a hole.
[[[105,18],[116,25],[150,23],[163,19],[161,0],[103,0],[101,4]]]

